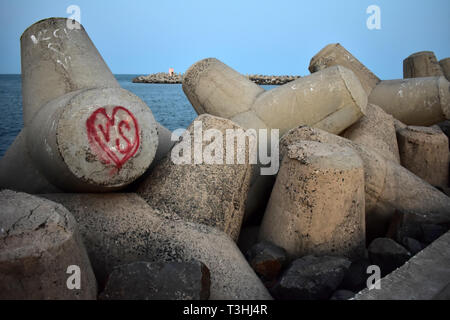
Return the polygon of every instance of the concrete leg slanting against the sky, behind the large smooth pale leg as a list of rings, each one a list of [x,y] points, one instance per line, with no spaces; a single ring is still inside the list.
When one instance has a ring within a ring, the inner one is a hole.
[[[367,95],[369,95],[372,89],[380,82],[380,79],[376,75],[339,43],[329,44],[320,50],[319,53],[311,59],[309,71],[314,73],[337,65],[352,70],[358,77]]]

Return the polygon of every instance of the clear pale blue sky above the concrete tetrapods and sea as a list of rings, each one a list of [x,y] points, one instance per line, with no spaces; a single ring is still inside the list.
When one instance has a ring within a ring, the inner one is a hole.
[[[381,30],[369,30],[369,5]],[[449,0],[104,1],[0,0],[0,73],[20,73],[22,32],[81,9],[81,22],[113,73],[184,72],[216,57],[241,73],[309,74],[311,57],[340,42],[382,79],[402,77],[409,54],[450,56]]]

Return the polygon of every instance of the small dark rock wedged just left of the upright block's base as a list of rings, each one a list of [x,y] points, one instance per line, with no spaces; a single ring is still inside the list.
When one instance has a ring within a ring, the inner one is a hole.
[[[271,242],[262,241],[248,250],[247,260],[263,280],[273,280],[286,262],[286,251]]]

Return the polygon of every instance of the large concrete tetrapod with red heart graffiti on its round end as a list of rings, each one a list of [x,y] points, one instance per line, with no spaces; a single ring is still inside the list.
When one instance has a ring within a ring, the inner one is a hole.
[[[154,158],[158,138],[150,109],[120,88],[84,28],[68,23],[45,19],[21,37],[26,149],[24,138],[17,139],[8,163],[1,160],[1,187],[43,192],[51,189],[47,180],[64,190],[114,190],[143,174]]]

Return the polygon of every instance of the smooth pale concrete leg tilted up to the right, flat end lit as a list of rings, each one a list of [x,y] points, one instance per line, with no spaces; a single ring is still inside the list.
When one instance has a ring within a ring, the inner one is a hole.
[[[355,74],[334,66],[259,95],[254,110],[280,135],[305,124],[340,133],[365,113],[367,94]]]

